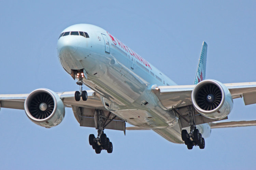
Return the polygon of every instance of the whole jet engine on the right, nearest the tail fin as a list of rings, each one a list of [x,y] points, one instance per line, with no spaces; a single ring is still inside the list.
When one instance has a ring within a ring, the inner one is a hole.
[[[203,80],[191,94],[195,109],[205,117],[223,119],[233,108],[233,99],[228,88],[216,80]]]

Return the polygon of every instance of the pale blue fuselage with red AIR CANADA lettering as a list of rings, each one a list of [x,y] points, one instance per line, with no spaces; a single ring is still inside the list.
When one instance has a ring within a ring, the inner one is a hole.
[[[89,37],[68,34],[79,31]],[[107,110],[171,142],[183,143],[177,117],[152,92],[159,85],[176,85],[171,79],[102,28],[76,24],[63,32],[68,35],[57,44],[61,65],[69,74],[84,69],[83,83],[99,94]]]

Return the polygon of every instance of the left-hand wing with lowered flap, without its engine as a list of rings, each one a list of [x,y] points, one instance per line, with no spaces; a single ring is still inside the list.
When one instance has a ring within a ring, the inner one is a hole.
[[[105,129],[120,130],[125,132],[125,122],[108,112],[100,100],[100,96],[93,90],[87,90],[87,101],[75,101],[75,91],[57,92],[56,94],[63,101],[65,107],[71,107],[76,120],[80,126],[96,128],[95,111],[102,110],[106,119]],[[23,109],[24,103],[29,94],[0,95],[0,108]],[[107,121],[109,120],[109,121]]]

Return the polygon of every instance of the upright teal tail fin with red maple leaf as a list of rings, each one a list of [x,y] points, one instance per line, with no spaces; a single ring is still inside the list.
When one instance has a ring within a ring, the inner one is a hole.
[[[207,57],[207,44],[203,41],[203,46],[202,46],[201,54],[198,61],[194,84],[197,84],[200,81],[203,81],[205,79],[206,57]]]

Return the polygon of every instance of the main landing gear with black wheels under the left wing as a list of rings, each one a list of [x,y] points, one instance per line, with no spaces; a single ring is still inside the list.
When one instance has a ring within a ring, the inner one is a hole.
[[[90,134],[89,144],[93,147],[97,154],[99,154],[101,150],[106,150],[108,153],[112,153],[113,151],[113,144],[103,131],[104,128],[116,117],[114,116],[112,119],[109,119],[110,114],[111,112],[107,117],[105,117],[102,111],[98,110],[94,115],[94,118],[97,119],[96,129],[98,129],[98,136],[96,138],[94,134]]]

